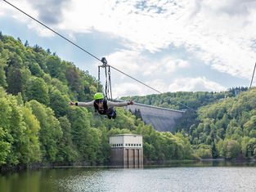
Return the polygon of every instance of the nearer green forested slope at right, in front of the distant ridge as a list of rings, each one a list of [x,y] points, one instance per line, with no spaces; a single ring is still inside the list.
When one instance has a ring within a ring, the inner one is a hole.
[[[255,158],[255,98],[254,87],[249,92],[240,92],[237,97],[227,97],[225,100],[201,107],[198,122],[191,124],[183,135],[196,146],[195,149],[201,157]]]

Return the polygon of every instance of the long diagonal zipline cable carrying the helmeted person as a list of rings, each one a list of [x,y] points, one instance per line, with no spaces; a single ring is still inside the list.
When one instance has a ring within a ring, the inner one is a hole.
[[[3,1],[4,1],[4,2],[7,2],[6,0],[3,0]],[[29,14],[25,13],[25,11],[20,10],[18,7],[12,5],[10,2],[7,2],[7,3],[8,3],[9,5],[11,5],[11,7],[14,7],[14,8],[16,8],[18,11],[22,12],[23,14],[25,14],[26,16],[29,16]],[[34,19],[34,17],[32,17],[32,16],[29,16],[29,17],[30,17],[32,20],[37,21],[39,24],[43,25],[43,26],[46,27],[47,29],[51,30],[53,33],[56,33],[56,34],[59,35],[61,38],[64,38],[66,41],[70,42],[70,43],[73,44],[75,47],[78,47],[78,48],[81,49],[82,51],[85,51],[86,53],[88,53],[88,55],[90,55],[90,56],[94,57],[95,59],[101,61],[99,58],[97,58],[97,56],[93,56],[90,52],[84,50],[82,47],[79,47],[79,46],[78,46],[77,44],[75,44],[74,42],[71,42],[70,39],[65,38],[63,35],[61,35],[60,33],[57,33],[55,30],[49,28],[47,25],[44,25],[44,24],[43,24],[42,22],[40,22],[39,20]],[[102,62],[102,61],[101,61],[101,62]],[[124,72],[120,71],[119,69],[116,69],[115,67],[113,67],[113,66],[111,66],[111,65],[109,65],[109,66],[112,67],[113,69],[119,71],[119,73],[124,74],[124,75],[128,76],[129,78],[132,78],[132,76],[130,76],[130,75],[128,75],[128,74],[125,74]],[[99,71],[99,73],[100,73],[100,71]],[[132,79],[135,80],[135,81],[137,81],[138,83],[143,84],[143,85],[146,86],[146,87],[149,87],[150,89],[154,90],[155,92],[158,92],[158,93],[160,93],[160,94],[163,94],[162,92],[157,91],[155,88],[150,87],[150,86],[146,85],[145,83],[142,83],[141,81],[137,80],[136,78],[132,78]],[[111,95],[112,95],[112,93],[111,93]],[[174,99],[171,98],[171,100],[174,100]],[[177,101],[177,100],[174,100],[174,101],[176,101],[176,102],[177,102],[178,104],[180,104],[180,105],[185,106],[187,109],[191,109],[191,110],[197,112],[195,109],[192,109],[192,108],[190,108],[189,106],[186,106],[186,105],[182,104],[181,102],[179,102],[179,101]]]

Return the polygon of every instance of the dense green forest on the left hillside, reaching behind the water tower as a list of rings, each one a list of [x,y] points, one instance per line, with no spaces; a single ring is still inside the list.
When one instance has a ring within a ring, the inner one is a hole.
[[[69,100],[93,100],[97,79],[56,52],[0,32],[0,170],[29,165],[109,163],[108,136],[140,134],[145,160],[195,159],[177,132],[157,132],[128,110],[117,118]]]

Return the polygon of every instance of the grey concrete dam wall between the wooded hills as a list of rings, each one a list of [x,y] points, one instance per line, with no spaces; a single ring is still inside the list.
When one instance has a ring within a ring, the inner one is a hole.
[[[132,113],[135,112],[135,109],[140,109],[142,120],[147,125],[152,123],[154,129],[159,132],[172,132],[177,120],[184,113],[181,110],[166,109],[139,103],[134,103],[134,105],[128,105],[124,108],[131,109]]]

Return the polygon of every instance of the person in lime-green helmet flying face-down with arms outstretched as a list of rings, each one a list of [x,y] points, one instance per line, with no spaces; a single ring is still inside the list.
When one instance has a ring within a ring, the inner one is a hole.
[[[94,96],[94,100],[90,102],[72,102],[70,100],[70,106],[76,105],[79,107],[94,107],[95,112],[98,112],[102,115],[107,115],[109,119],[116,118],[116,110],[114,107],[124,107],[127,105],[133,105],[133,101],[130,102],[113,102],[110,100],[104,99],[104,96],[101,92],[97,92]]]

